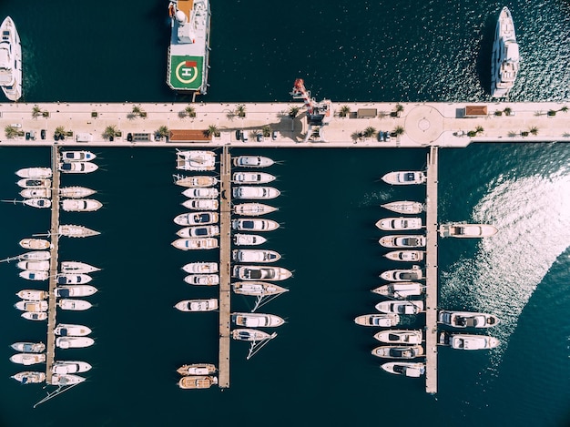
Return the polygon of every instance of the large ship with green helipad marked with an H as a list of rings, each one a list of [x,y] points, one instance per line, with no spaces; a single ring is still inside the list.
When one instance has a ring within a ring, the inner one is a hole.
[[[178,0],[168,5],[172,33],[168,47],[168,86],[206,94],[209,68],[209,0]]]

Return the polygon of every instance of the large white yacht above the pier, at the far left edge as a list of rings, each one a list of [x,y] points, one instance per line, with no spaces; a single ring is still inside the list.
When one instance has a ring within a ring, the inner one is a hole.
[[[17,101],[22,97],[22,45],[10,16],[0,26],[0,34],[0,86],[5,97]]]

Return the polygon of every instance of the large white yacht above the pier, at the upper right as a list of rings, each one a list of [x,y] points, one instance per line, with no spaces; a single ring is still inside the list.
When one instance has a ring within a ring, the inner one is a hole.
[[[497,19],[491,59],[491,97],[507,97],[519,70],[519,49],[513,16],[504,7]]]

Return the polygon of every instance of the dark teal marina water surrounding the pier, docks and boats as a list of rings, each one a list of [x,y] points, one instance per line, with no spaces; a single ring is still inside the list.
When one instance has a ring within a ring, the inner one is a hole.
[[[504,4],[451,2],[212,1],[209,94],[204,102],[289,101],[305,79],[317,99],[343,101],[487,101],[494,20]],[[24,101],[186,102],[168,90],[167,3],[125,0],[83,4],[3,0],[23,43]],[[514,101],[565,100],[570,75],[567,2],[509,2],[523,57]],[[104,25],[101,25],[104,23]],[[562,114],[562,113],[560,113]],[[382,125],[379,125],[381,127]],[[390,130],[390,129],[383,129]],[[540,130],[539,130],[540,135]],[[102,268],[86,312],[58,321],[91,327],[96,345],[57,358],[94,365],[88,381],[50,402],[40,386],[20,386],[8,361],[15,341],[45,341],[46,324],[21,320],[11,305],[31,283],[14,263],[0,265],[0,425],[238,426],[365,425],[422,422],[462,426],[565,426],[570,423],[570,148],[555,144],[478,144],[440,152],[440,221],[489,222],[493,239],[439,244],[440,305],[490,311],[495,351],[440,349],[439,391],[424,381],[380,370],[372,330],[352,319],[373,312],[370,290],[393,268],[377,243],[379,205],[424,197],[424,188],[391,188],[379,178],[425,166],[422,149],[259,149],[270,168],[281,223],[267,249],[294,270],[290,292],[263,310],[284,317],[278,338],[246,361],[231,343],[230,388],[180,391],[176,369],[217,361],[216,313],[188,314],[182,299],[215,296],[190,287],[179,269],[216,253],[172,249],[184,211],[172,184],[174,150],[97,151],[97,173],[63,177],[63,185],[97,188],[105,208],[62,212],[62,222],[102,232],[62,239],[60,259]],[[232,149],[232,154],[250,150]],[[0,147],[1,198],[18,198],[14,172],[49,162],[46,147]],[[17,242],[46,233],[49,212],[0,205],[3,258]],[[252,300],[232,297],[234,310]],[[418,316],[406,327],[421,328]],[[413,418],[412,418],[413,417]]]

